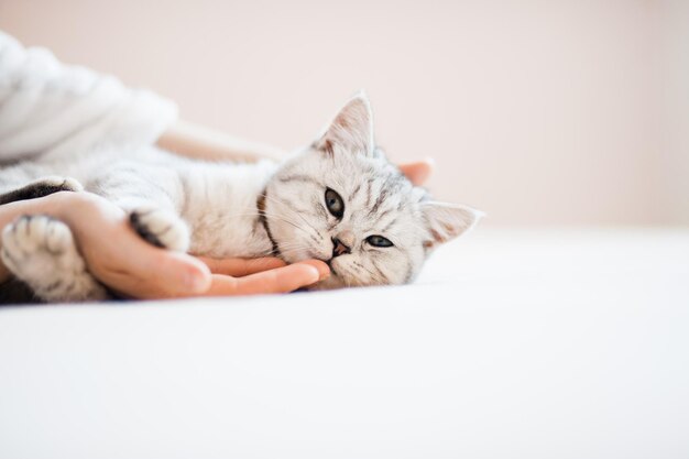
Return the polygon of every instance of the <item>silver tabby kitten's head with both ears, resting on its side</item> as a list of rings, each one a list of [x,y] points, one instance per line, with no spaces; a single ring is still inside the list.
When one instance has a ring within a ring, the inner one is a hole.
[[[320,259],[330,265],[321,288],[409,282],[434,248],[481,216],[433,200],[385,159],[374,144],[363,94],[284,163],[265,195],[270,232],[285,261]]]

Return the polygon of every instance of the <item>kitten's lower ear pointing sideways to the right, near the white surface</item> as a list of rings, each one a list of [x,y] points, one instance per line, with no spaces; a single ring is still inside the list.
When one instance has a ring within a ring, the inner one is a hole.
[[[470,230],[484,216],[469,206],[439,201],[422,203],[422,212],[426,221],[428,238],[426,249],[450,241]]]

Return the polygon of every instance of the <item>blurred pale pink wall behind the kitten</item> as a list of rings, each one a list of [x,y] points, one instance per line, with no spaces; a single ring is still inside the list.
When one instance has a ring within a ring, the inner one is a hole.
[[[284,149],[365,88],[485,225],[689,225],[689,1],[0,0],[0,29]]]

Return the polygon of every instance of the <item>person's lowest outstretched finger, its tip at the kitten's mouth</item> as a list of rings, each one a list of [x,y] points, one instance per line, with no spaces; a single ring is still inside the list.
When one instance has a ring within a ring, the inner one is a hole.
[[[221,274],[212,275],[210,288],[206,296],[258,295],[287,293],[314,284],[319,278],[318,269],[306,263],[296,263],[277,267],[245,277],[230,277]]]

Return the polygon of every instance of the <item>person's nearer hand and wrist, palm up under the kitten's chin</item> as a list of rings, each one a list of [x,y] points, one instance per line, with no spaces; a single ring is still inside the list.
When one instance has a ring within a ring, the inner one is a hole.
[[[57,193],[4,205],[0,207],[0,227],[21,215],[37,214],[67,223],[89,272],[128,297],[291,292],[328,273],[325,263],[318,261],[285,266],[276,259],[212,261],[166,251],[141,239],[119,207],[86,193]],[[0,277],[7,276],[0,263]]]

